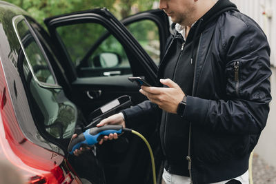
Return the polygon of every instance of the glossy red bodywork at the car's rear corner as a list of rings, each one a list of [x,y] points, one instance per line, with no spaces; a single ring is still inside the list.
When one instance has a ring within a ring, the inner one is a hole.
[[[1,62],[2,63],[2,62]],[[10,96],[8,85],[3,74],[2,66],[0,68],[0,155],[1,159],[9,161],[23,176],[25,181],[32,181],[36,178],[37,181],[46,180],[48,183],[57,183],[55,178],[56,170],[64,167],[65,158],[61,154],[53,151],[55,149],[46,149],[32,143],[23,134],[17,116],[14,112],[12,98]],[[39,140],[38,140],[39,141]],[[37,141],[36,141],[37,142]],[[49,146],[49,144],[47,144]],[[55,147],[57,147],[55,145]],[[63,165],[63,166],[62,166]],[[66,170],[68,170],[66,168]],[[72,183],[78,183],[79,178],[76,178],[75,173],[67,174],[74,178]]]

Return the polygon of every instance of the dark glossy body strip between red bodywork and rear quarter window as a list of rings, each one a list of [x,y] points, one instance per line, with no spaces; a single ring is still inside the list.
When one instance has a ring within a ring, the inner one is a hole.
[[[5,3],[5,6],[8,3]],[[17,9],[15,9],[17,10]],[[20,10],[20,9],[19,9]],[[33,143],[42,144],[44,147],[48,149],[52,149],[52,147],[56,147],[54,150],[59,152],[59,148],[57,145],[53,145],[51,143],[43,143],[45,142],[43,138],[41,138],[40,141],[37,141],[37,137],[39,137],[39,132],[36,130],[36,128],[30,128],[32,126],[29,126],[28,123],[20,123],[20,122],[30,122],[30,125],[33,125],[32,116],[30,113],[30,109],[28,108],[28,100],[25,93],[20,93],[24,91],[23,83],[21,82],[21,79],[19,77],[19,74],[17,72],[17,59],[18,59],[18,53],[17,49],[19,48],[19,41],[17,40],[15,32],[12,32],[13,25],[12,25],[12,17],[17,16],[17,14],[27,14],[26,12],[17,10],[17,13],[12,12],[12,8],[10,11],[3,11],[6,12],[5,15],[3,15],[3,22],[6,22],[6,25],[2,26],[2,29],[0,28],[0,34],[1,34],[1,50],[0,50],[0,59],[1,59],[1,65],[3,67],[3,76],[5,76],[4,81],[7,82],[7,88],[11,99],[12,99],[12,105],[14,108],[15,115],[17,116],[17,119],[19,119],[19,127],[22,129],[23,134],[26,134],[27,139],[32,141]],[[7,20],[5,20],[7,19]],[[9,20],[9,21],[8,21]],[[60,154],[63,154],[63,152],[59,152]]]

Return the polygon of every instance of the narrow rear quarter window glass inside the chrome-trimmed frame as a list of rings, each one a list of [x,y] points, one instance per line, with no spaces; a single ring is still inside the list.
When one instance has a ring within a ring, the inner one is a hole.
[[[32,34],[30,33],[28,25],[26,25],[25,21],[21,21],[17,24],[17,31],[24,45],[25,52],[30,61],[30,65],[32,65],[34,75],[40,82],[55,84],[55,79],[52,75],[52,72],[50,72],[46,58],[43,56],[39,45],[37,45],[36,41],[34,40],[34,37],[32,37]]]

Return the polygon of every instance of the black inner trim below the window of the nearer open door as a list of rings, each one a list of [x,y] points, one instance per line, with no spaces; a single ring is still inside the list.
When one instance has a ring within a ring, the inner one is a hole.
[[[72,94],[86,107],[82,108],[82,111],[87,115],[119,96],[129,95],[134,104],[146,100],[146,97],[139,93],[139,87],[128,80],[128,76],[132,75],[79,78],[72,83]],[[83,95],[79,95],[79,92],[83,92]],[[96,94],[97,92],[100,94]]]

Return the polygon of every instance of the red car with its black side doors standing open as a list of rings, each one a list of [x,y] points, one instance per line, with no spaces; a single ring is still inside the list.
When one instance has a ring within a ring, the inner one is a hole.
[[[150,10],[118,21],[101,8],[45,23],[48,31],[0,1],[0,158],[26,183],[152,183],[147,147],[135,136],[122,135],[81,156],[67,147],[72,134],[124,108],[126,95],[132,104],[145,100],[128,76],[156,84],[169,35],[166,14]],[[160,183],[157,123],[135,128],[152,145]]]

